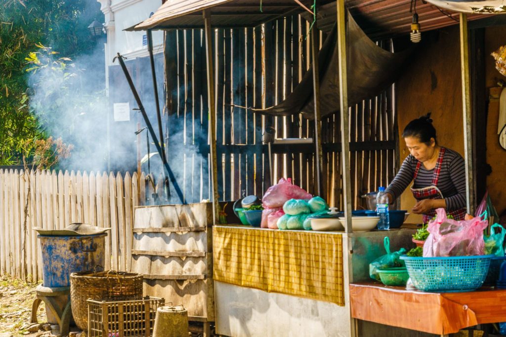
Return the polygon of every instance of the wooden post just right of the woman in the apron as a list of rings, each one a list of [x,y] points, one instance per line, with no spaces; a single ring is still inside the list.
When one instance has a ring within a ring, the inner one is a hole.
[[[471,84],[469,79],[468,17],[460,13],[460,71],[462,76],[462,122],[466,162],[466,199],[469,214],[475,209],[475,179],[473,168],[473,137],[471,116]]]

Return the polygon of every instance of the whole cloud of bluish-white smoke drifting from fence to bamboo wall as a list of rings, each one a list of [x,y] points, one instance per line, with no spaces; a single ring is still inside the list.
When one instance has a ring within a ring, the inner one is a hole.
[[[207,118],[207,109],[201,96],[192,93],[184,102],[179,100],[175,105],[184,106],[174,109],[180,112],[180,117],[176,116],[177,111],[163,116],[168,165],[176,180],[175,184],[170,182],[170,197],[166,198],[162,183],[165,170],[160,156],[151,136],[146,139],[148,130],[140,132],[139,136],[135,134],[146,123],[134,110],[138,108],[137,103],[117,62],[109,67],[109,97],[106,97],[103,43],[96,43],[93,50],[71,61],[62,59],[65,55],[52,52],[58,50],[49,50],[49,53],[40,50],[41,65],[28,72],[30,106],[48,136],[61,137],[74,147],[71,157],[60,162],[60,169],[132,173],[137,170],[139,151],[141,170],[151,173],[158,186],[156,201],[147,190],[148,203],[179,204],[177,189],[184,194],[185,203],[209,199],[208,132],[201,126],[202,118]],[[163,53],[155,55],[155,59],[160,107],[163,109],[166,102]],[[129,59],[125,63],[159,137],[149,59]],[[177,94],[185,95],[187,88],[183,84],[183,74],[178,76],[181,77],[181,87],[176,89]],[[113,104],[125,102],[130,103],[130,121],[114,121]]]

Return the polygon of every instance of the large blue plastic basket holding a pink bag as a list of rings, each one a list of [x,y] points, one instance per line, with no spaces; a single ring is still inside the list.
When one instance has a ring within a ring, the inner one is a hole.
[[[424,292],[470,292],[482,286],[493,255],[401,256],[414,286]]]

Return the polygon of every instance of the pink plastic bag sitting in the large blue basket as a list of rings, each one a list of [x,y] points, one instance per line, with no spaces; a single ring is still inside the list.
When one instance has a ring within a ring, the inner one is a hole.
[[[424,257],[471,256],[485,254],[483,229],[487,221],[479,217],[456,221],[446,217],[443,208],[436,210],[437,216],[429,222],[429,237],[424,244]]]

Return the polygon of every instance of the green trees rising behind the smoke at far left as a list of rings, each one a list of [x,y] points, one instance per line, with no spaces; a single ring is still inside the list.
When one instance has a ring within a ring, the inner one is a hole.
[[[92,6],[93,5],[93,6]],[[29,109],[26,58],[37,62],[40,44],[67,57],[93,49],[87,26],[102,20],[87,0],[6,0],[0,10],[0,165],[20,164],[27,139],[44,139]],[[64,60],[62,60],[64,61]],[[31,70],[31,69],[28,69]]]

